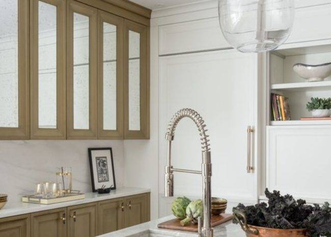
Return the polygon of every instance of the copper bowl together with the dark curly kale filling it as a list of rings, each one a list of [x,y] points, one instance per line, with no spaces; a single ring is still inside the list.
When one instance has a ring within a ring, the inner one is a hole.
[[[239,204],[233,208],[233,223],[240,224],[248,237],[331,236],[331,207],[307,205],[279,191],[265,189],[268,204]]]

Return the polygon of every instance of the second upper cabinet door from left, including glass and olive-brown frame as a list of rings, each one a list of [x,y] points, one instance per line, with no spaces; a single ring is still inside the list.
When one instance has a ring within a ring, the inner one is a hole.
[[[66,139],[65,1],[31,9],[31,139]]]

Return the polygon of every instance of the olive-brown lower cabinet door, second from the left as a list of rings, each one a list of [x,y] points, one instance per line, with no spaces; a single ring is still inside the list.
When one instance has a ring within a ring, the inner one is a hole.
[[[66,216],[67,216],[66,208],[32,213],[31,236],[66,237],[67,236]]]

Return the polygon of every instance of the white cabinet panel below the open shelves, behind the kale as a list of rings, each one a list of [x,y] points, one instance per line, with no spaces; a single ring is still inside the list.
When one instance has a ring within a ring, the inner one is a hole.
[[[267,187],[313,202],[331,200],[331,126],[268,126]]]

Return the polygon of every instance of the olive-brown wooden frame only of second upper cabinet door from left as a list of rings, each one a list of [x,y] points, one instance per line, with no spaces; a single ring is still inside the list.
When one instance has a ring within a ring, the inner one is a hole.
[[[38,4],[57,7],[57,128],[39,128]],[[31,139],[66,139],[66,5],[64,0],[31,0]]]

